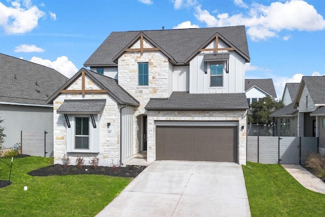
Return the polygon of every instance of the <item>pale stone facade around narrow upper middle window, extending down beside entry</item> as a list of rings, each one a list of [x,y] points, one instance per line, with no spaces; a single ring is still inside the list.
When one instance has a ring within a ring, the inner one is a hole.
[[[154,47],[146,40],[143,46]],[[140,48],[140,41],[131,48]],[[148,63],[147,86],[138,85],[138,63]],[[142,141],[142,137],[139,137],[141,124],[138,123],[137,117],[147,114],[144,107],[150,98],[169,97],[169,65],[168,58],[160,51],[124,52],[118,59],[118,84],[140,102],[140,106],[135,108],[134,113],[134,154],[140,151],[139,146]]]

